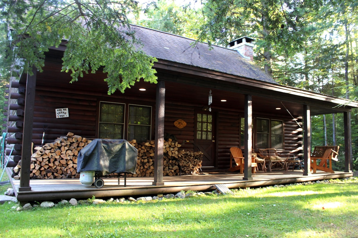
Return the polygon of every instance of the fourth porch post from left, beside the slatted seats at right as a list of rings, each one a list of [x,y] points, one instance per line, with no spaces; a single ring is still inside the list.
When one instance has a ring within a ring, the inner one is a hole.
[[[311,111],[309,105],[303,105],[303,157],[303,175],[308,176],[311,168]]]

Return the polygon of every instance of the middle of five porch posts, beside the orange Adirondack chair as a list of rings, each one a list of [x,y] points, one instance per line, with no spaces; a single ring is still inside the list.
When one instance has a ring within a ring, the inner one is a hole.
[[[252,95],[245,95],[245,144],[244,148],[244,177],[243,180],[252,180],[251,156],[252,156]]]

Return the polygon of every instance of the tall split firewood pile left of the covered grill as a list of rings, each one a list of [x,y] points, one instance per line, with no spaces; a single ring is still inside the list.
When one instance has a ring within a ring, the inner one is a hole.
[[[77,155],[89,142],[91,140],[68,132],[67,136],[59,137],[53,143],[36,146],[31,156],[30,178],[79,178]],[[17,173],[20,168],[21,161],[14,172]]]

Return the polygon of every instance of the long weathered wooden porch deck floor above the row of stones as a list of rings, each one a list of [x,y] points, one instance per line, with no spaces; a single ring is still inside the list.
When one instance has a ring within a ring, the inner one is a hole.
[[[31,191],[18,191],[20,181],[11,179],[15,195],[20,202],[44,201],[60,199],[87,199],[116,198],[116,197],[141,197],[157,194],[177,193],[180,191],[209,191],[215,188],[214,184],[224,184],[229,189],[246,187],[264,187],[275,184],[300,183],[325,179],[352,177],[352,173],[335,172],[326,173],[318,171],[308,176],[303,176],[302,171],[278,171],[258,172],[252,175],[252,180],[243,180],[243,175],[238,173],[203,173],[198,175],[164,176],[164,186],[154,186],[153,177],[129,177],[126,187],[124,178],[121,177],[118,185],[117,178],[103,178],[105,185],[102,188],[82,185],[79,179],[32,179]]]

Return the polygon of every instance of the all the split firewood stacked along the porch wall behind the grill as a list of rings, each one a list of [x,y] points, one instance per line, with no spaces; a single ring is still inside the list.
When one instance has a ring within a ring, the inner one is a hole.
[[[77,155],[90,142],[91,140],[68,132],[67,136],[59,137],[53,143],[36,146],[31,156],[30,178],[79,178]],[[136,173],[128,174],[128,177],[154,176],[155,142],[137,143],[132,140],[130,143],[137,148],[138,157]],[[180,150],[180,146],[177,141],[164,140],[163,176],[194,174],[199,171],[203,153]],[[20,169],[21,161],[14,167],[14,172],[19,173]],[[14,178],[19,179],[20,173]]]

